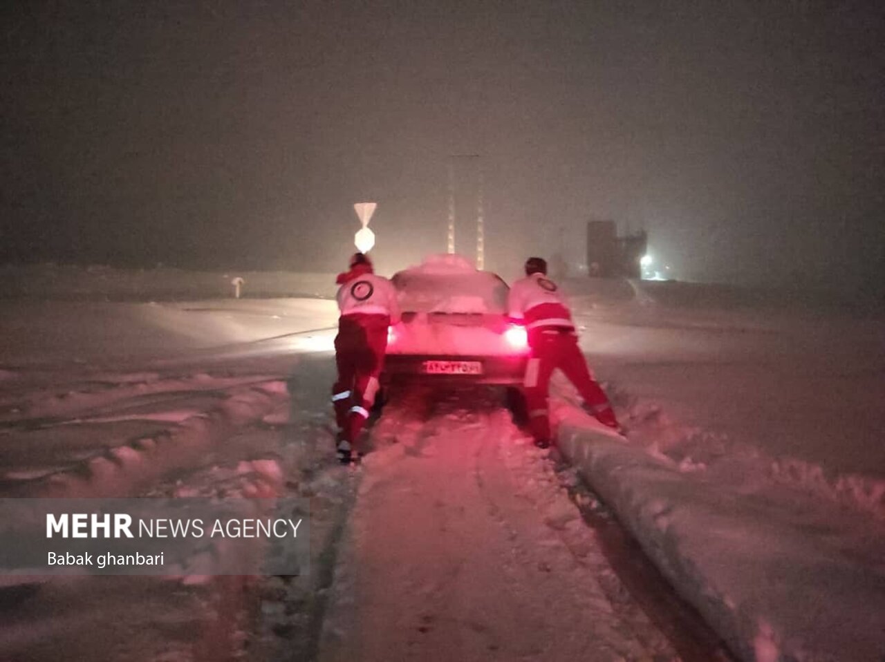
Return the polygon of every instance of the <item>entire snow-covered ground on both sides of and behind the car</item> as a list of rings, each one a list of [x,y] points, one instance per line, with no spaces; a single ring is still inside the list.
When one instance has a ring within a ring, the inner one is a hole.
[[[6,271],[9,281],[27,280],[24,272]],[[365,659],[382,659],[385,653],[393,659],[405,657],[405,651],[385,647],[418,645],[409,650],[429,657],[434,637],[455,646],[436,650],[472,650],[475,658],[482,657],[471,646],[484,646],[487,658],[519,654],[529,659],[543,652],[546,659],[559,659],[581,648],[581,624],[587,622],[598,623],[587,630],[597,635],[597,658],[692,658],[685,647],[673,648],[673,635],[661,635],[643,609],[621,595],[627,591],[615,587],[596,551],[584,557],[575,551],[592,549],[594,535],[578,525],[577,511],[570,510],[573,500],[558,500],[566,486],[551,473],[552,460],[527,445],[504,410],[484,396],[458,400],[456,394],[440,412],[392,404],[373,428],[375,458],[356,474],[335,466],[327,404],[334,374],[333,302],[224,297],[219,283],[229,285],[235,274],[191,278],[173,270],[66,267],[70,278],[65,280],[58,277],[59,267],[26,271],[41,288],[19,289],[0,303],[2,496],[311,497],[315,563],[312,577],[294,580],[0,581],[0,659],[171,661],[230,658],[230,651],[250,659],[284,658],[285,651],[289,658],[307,659],[320,651],[334,659],[342,650],[372,647],[380,652]],[[256,274],[245,277],[247,285],[261,281]],[[316,274],[302,281],[298,274],[274,279],[287,282],[287,289],[268,286],[262,296],[327,294]],[[74,281],[77,294],[67,296],[73,290],[58,283]],[[151,295],[152,287],[158,287],[157,296]],[[885,635],[861,630],[881,625],[875,620],[881,614],[860,613],[857,602],[866,596],[881,605],[885,596],[881,312],[734,299],[674,283],[602,282],[590,288],[584,282],[572,289],[591,366],[631,428],[626,445],[603,441],[594,448],[612,453],[610,458],[619,448],[634,454],[610,459],[617,466],[603,474],[624,481],[591,488],[610,500],[684,597],[701,595],[715,605],[732,601],[743,629],[735,630],[727,614],[717,618],[704,604],[698,607],[745,658],[767,662],[781,651],[783,659],[880,662]],[[248,287],[244,291],[248,295]],[[557,411],[577,420],[581,430],[592,428],[592,421],[581,420],[569,404],[572,399],[571,389],[560,385]],[[453,445],[458,439],[465,440],[462,447]],[[421,466],[410,465],[416,457],[423,458]],[[648,481],[640,460],[664,472],[666,481]],[[444,473],[434,473],[434,466],[441,471],[467,466],[473,478],[461,485],[455,476],[445,480]],[[497,466],[506,471],[498,473]],[[496,487],[477,487],[483,480]],[[474,491],[463,498],[450,492],[440,504],[429,497],[446,489]],[[640,506],[651,502],[659,506],[657,514],[645,517],[648,512],[643,515]],[[698,503],[703,512],[696,510]],[[458,520],[452,518],[477,505],[489,511],[490,520],[466,520],[458,533]],[[445,610],[462,597],[473,605],[468,611],[481,610],[487,575],[489,591],[511,590],[491,564],[454,583],[424,587],[445,598],[443,611],[422,611],[414,624],[409,613],[385,603],[385,559],[389,577],[403,575],[392,586],[406,590],[409,573],[421,565],[409,554],[427,551],[397,547],[389,540],[396,530],[385,527],[396,524],[398,515],[418,518],[425,508],[439,511],[442,519],[416,526],[449,522],[450,545],[435,551],[434,563],[416,576],[433,584],[433,577],[461,567],[459,554],[470,558],[488,542],[496,554],[513,555],[512,564],[502,566],[510,568],[514,591],[501,593],[509,596],[504,602],[528,609],[535,598],[552,604],[561,596],[569,608],[550,612],[543,627],[554,641],[554,623],[562,628],[560,638],[576,638],[562,649],[545,640],[537,652],[525,635],[527,625],[511,627],[510,638],[502,629],[522,618],[521,612],[508,612],[511,607],[491,622],[473,618],[473,612],[451,620]],[[497,514],[491,512],[495,509]],[[737,535],[740,529],[722,524],[735,512],[746,526],[764,524],[766,535],[752,527]],[[503,528],[494,535],[489,531],[487,541],[484,531],[492,520]],[[665,520],[667,526],[661,525]],[[721,527],[708,526],[711,521]],[[366,537],[376,525],[379,537]],[[692,559],[687,551],[692,529],[719,535],[722,550],[740,550],[742,563],[724,566],[720,561],[729,557],[723,551],[712,559],[718,573],[699,574],[706,572],[702,565],[675,566]],[[797,550],[797,541],[802,549]],[[535,545],[549,548],[550,557],[536,558]],[[656,545],[661,553],[655,553]],[[803,567],[816,571],[804,576],[796,567],[770,563],[778,560],[774,550],[788,547]],[[813,565],[824,557],[838,558],[843,572],[834,573],[835,566],[823,562]],[[364,561],[374,564],[373,577],[354,577],[350,571]],[[533,564],[541,579],[527,573]],[[573,582],[558,587],[550,575],[561,573]],[[743,593],[727,599],[717,593],[721,587],[715,581],[725,575],[741,584]],[[349,594],[350,589],[359,592]],[[787,589],[799,591],[796,604],[803,608],[785,623],[777,620],[780,612],[766,610],[782,607],[775,598]],[[132,600],[133,594],[139,598]],[[257,612],[251,608],[256,596]],[[362,625],[348,606],[360,596],[381,602]],[[840,609],[855,611],[835,622]],[[397,623],[413,629],[382,632],[384,614],[395,613]],[[110,620],[114,632],[104,635],[103,629],[99,645],[96,624]],[[651,620],[659,627],[657,618]],[[838,636],[812,636],[812,631],[835,630]],[[735,631],[756,633],[758,645],[748,648],[735,640]],[[418,643],[411,643],[416,636]],[[812,650],[809,642],[843,648]]]

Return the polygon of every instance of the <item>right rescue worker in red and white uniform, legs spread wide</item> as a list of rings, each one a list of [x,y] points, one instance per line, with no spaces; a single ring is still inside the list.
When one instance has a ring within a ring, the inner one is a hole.
[[[526,277],[513,283],[508,308],[512,319],[526,325],[531,348],[523,386],[535,446],[550,446],[547,398],[550,375],[556,368],[578,389],[596,420],[621,432],[612,404],[593,379],[578,347],[578,335],[566,298],[558,285],[547,278],[547,262],[543,258],[527,259]]]

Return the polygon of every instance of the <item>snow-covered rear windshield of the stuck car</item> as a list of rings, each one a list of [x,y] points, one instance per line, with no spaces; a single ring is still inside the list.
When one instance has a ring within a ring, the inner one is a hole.
[[[408,273],[393,277],[404,312],[507,311],[507,284],[493,273]]]

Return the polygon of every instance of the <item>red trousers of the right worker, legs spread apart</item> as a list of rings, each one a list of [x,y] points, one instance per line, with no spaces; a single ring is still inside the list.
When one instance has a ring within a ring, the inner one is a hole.
[[[589,410],[595,414],[611,409],[608,397],[593,379],[587,361],[578,347],[578,336],[573,331],[531,329],[528,344],[532,353],[526,366],[523,386],[528,405],[528,425],[536,440],[550,441],[550,412],[548,390],[550,375],[555,369],[565,373]]]

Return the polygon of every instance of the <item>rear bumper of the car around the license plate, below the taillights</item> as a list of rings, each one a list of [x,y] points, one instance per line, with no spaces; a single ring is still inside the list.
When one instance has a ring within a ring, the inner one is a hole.
[[[429,374],[425,361],[471,361],[482,366],[481,374]],[[384,358],[381,383],[421,381],[429,384],[521,384],[526,374],[527,356],[421,356],[388,354]]]

